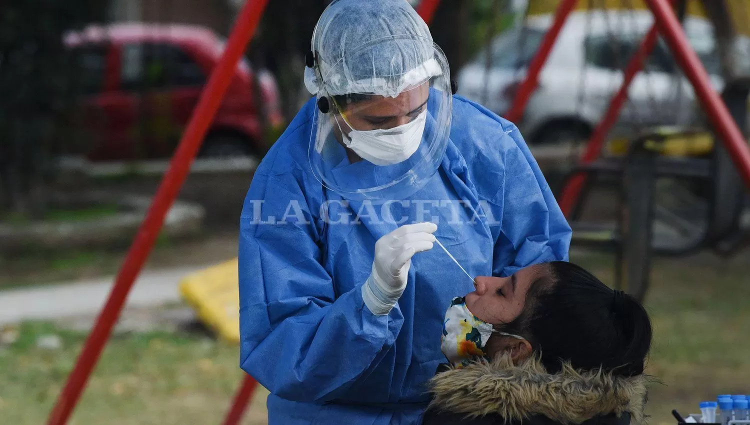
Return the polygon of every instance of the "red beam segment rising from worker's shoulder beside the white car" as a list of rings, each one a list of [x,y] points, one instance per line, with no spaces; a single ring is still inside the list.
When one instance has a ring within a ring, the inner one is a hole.
[[[510,109],[508,109],[508,112],[505,113],[505,118],[508,119],[508,121],[517,122],[523,117],[523,111],[526,110],[526,104],[529,103],[529,99],[534,93],[534,89],[538,83],[541,68],[543,68],[544,63],[547,62],[547,58],[557,40],[557,36],[559,35],[560,30],[562,30],[562,25],[565,24],[565,21],[575,7],[576,2],[577,0],[562,0],[559,6],[557,6],[552,27],[547,31],[547,34],[544,34],[544,38],[541,39],[539,49],[529,63],[528,70],[526,70],[526,78],[523,79],[523,82],[518,86],[518,92],[513,99],[513,103]]]

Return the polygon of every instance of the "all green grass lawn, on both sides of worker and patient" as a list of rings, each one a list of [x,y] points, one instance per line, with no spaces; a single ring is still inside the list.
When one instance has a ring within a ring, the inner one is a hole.
[[[606,256],[573,256],[610,280]],[[716,394],[750,393],[750,262],[710,255],[661,259],[647,301],[655,325],[649,373],[664,381],[649,394],[651,424],[674,424],[671,409],[698,412]],[[42,424],[73,366],[84,335],[27,323],[0,349],[0,418]],[[63,347],[37,348],[43,334]],[[219,424],[241,375],[237,349],[188,334],[125,334],[104,352],[71,424]],[[245,424],[264,424],[258,391]]]

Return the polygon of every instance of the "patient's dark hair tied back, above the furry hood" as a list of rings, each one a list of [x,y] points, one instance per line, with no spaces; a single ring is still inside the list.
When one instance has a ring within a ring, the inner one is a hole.
[[[563,361],[577,370],[643,373],[652,337],[643,305],[570,262],[544,266],[549,273],[529,287],[523,313],[498,329],[529,340],[549,373]]]

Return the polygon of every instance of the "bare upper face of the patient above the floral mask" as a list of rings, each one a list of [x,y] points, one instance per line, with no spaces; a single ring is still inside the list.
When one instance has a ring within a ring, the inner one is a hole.
[[[534,265],[511,277],[477,277],[476,290],[466,295],[466,307],[478,319],[491,325],[510,323],[523,311],[531,284],[547,274],[547,267]]]

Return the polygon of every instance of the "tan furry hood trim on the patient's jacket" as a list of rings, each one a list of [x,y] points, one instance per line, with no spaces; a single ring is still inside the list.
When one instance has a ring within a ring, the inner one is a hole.
[[[502,357],[438,373],[429,385],[431,409],[469,418],[499,415],[510,422],[544,415],[560,424],[580,424],[598,415],[630,412],[634,424],[643,424],[648,381],[645,375],[578,372],[569,365],[552,375],[538,358],[515,366]]]

